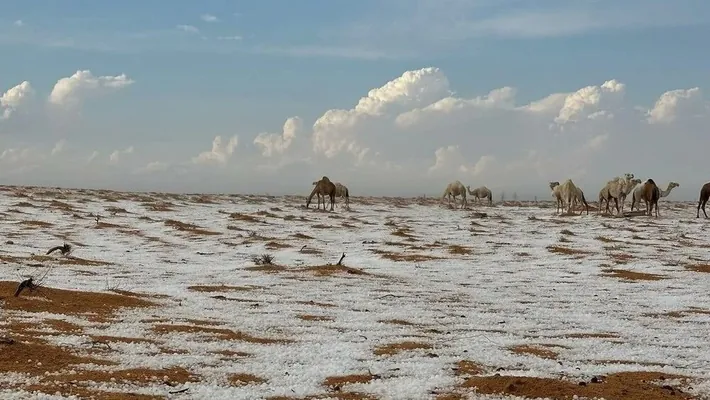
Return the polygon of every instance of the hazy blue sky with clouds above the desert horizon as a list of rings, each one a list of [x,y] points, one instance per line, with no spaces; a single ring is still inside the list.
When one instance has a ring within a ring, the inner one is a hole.
[[[437,194],[442,182],[460,179],[542,196],[550,180],[571,177],[596,193],[633,170],[678,181],[678,192],[692,198],[706,179],[692,175],[701,154],[661,168],[613,149],[652,137],[660,152],[672,135],[672,145],[692,147],[702,134],[710,86],[704,1],[6,3],[0,96],[24,81],[32,88],[22,101],[13,97],[4,106],[11,115],[0,120],[0,149],[13,150],[0,158],[8,183],[288,193],[307,192],[328,174],[368,194]],[[436,70],[405,76],[428,67]],[[54,85],[77,71],[89,71],[68,81],[78,103],[49,102]],[[100,78],[122,74],[114,86]],[[441,79],[445,85],[426,86]],[[612,80],[623,88],[602,89]],[[563,97],[544,116],[520,115],[531,102],[588,86],[596,89],[583,93],[584,120],[554,122]],[[491,100],[496,107],[465,101],[504,87],[515,93]],[[696,87],[665,97],[664,117],[644,117],[664,93]],[[356,110],[377,88],[384,89],[370,100],[381,107]],[[442,115],[396,123],[432,104]],[[328,114],[337,109],[352,112]],[[290,117],[300,121],[297,132],[280,136],[278,150],[254,142],[260,133],[283,134]],[[223,146],[234,136],[238,144],[196,161],[216,136]],[[568,159],[590,141],[589,154]],[[600,169],[609,151],[623,157]],[[521,162],[532,164],[516,169]]]

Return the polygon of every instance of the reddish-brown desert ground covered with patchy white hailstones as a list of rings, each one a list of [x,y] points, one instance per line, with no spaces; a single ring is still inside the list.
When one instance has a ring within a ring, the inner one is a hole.
[[[0,187],[0,397],[710,398],[694,204],[342,204]]]

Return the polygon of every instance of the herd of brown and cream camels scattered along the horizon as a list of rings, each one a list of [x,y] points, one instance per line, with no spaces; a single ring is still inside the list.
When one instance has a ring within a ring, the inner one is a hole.
[[[605,212],[611,214],[609,210],[609,204],[614,200],[614,206],[616,208],[617,215],[624,212],[624,202],[626,197],[631,194],[631,211],[634,210],[634,206],[637,210],[641,210],[641,202],[643,201],[646,210],[644,215],[653,215],[653,210],[655,207],[655,216],[658,217],[658,200],[667,197],[673,188],[679,187],[680,184],[676,182],[670,182],[665,190],[661,190],[656,185],[653,179],[648,179],[643,182],[641,179],[635,178],[634,174],[626,173],[623,177],[616,177],[606,183],[606,185],[599,191],[599,210],[601,213],[602,204],[606,202]],[[328,177],[324,176],[319,181],[313,182],[315,187],[311,191],[308,200],[306,201],[306,208],[311,204],[313,196],[318,196],[318,208],[320,209],[321,196],[323,197],[323,208],[325,209],[325,196],[330,198],[330,210],[333,211],[333,206],[335,204],[335,197],[344,197],[346,208],[350,208],[350,192],[348,188],[339,183],[331,182]],[[562,184],[560,182],[550,182],[550,189],[552,190],[552,197],[557,201],[556,212],[565,212],[565,207],[567,208],[567,213],[573,213],[574,207],[578,204],[584,204],[587,214],[589,214],[589,204],[584,197],[584,192],[581,188],[577,187],[571,179],[567,179]],[[493,204],[493,193],[490,189],[485,186],[481,186],[476,189],[471,189],[470,186],[465,186],[461,181],[454,181],[449,183],[444,190],[444,194],[441,196],[442,200],[448,196],[449,203],[453,197],[454,204],[456,203],[456,197],[461,196],[461,208],[466,207],[467,200],[466,194],[471,195],[476,198],[477,201],[480,199],[488,199],[488,204]],[[698,200],[698,209],[696,213],[696,218],[700,218],[700,210],[703,210],[705,218],[709,218],[708,214],[705,212],[705,205],[710,199],[710,182],[704,184],[700,188],[700,199]],[[621,202],[621,208],[619,208],[619,202]],[[580,211],[583,212],[584,210]]]

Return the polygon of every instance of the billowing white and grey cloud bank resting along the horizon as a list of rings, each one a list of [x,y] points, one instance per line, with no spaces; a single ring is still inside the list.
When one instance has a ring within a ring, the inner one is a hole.
[[[82,115],[87,101],[139,85],[130,73],[88,69],[59,78],[48,93],[19,82],[0,96],[0,128],[11,124],[21,137],[36,121],[46,129],[57,118],[81,124],[68,117]],[[280,132],[216,135],[182,160],[164,158],[169,142],[164,152],[149,152],[139,143],[89,148],[69,134],[53,141],[45,135],[4,149],[0,175],[15,184],[274,194],[307,193],[327,175],[353,195],[436,195],[459,179],[541,198],[547,182],[566,178],[595,198],[607,180],[626,172],[661,185],[679,182],[690,198],[703,183],[686,180],[706,163],[696,143],[704,143],[710,102],[699,87],[637,105],[626,99],[632,88],[610,77],[521,104],[510,86],[459,97],[436,67],[373,86],[351,108],[324,110],[313,121],[283,116]],[[678,176],[683,169],[687,175]]]

